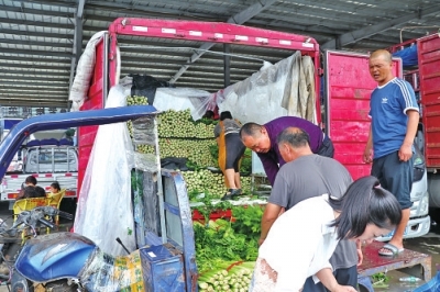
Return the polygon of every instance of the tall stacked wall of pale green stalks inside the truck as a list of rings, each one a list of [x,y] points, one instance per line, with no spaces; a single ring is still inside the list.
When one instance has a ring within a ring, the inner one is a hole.
[[[128,105],[147,104],[145,97],[127,97]],[[207,167],[218,168],[218,146],[213,137],[217,121],[200,119],[194,121],[190,110],[162,112],[157,117],[158,148],[161,158],[187,158],[187,167],[194,171],[183,171],[188,192],[199,193],[209,190],[215,198],[221,198],[226,192],[224,178],[221,172],[211,172]],[[132,134],[132,125],[128,123]],[[139,145],[138,150],[154,154],[154,147]],[[248,149],[242,162],[241,172],[251,172],[251,151]],[[242,177],[242,190],[251,191],[251,178]]]

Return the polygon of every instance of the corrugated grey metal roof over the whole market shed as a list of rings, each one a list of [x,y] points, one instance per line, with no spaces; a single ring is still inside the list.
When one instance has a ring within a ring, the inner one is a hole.
[[[117,18],[216,21],[309,35],[322,48],[370,52],[436,32],[439,1],[410,0],[0,0],[0,104],[67,106],[75,66],[88,40]],[[202,44],[122,36],[122,76],[170,80]],[[223,47],[215,45],[176,86],[217,91]],[[231,82],[249,77],[282,49],[231,45]]]

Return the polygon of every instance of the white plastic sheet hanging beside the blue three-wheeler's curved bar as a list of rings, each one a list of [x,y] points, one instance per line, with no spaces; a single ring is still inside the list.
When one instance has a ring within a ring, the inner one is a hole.
[[[125,105],[125,92],[122,86],[111,88],[106,108]],[[79,193],[75,232],[112,256],[127,254],[117,237],[129,250],[136,248],[131,205],[133,153],[127,123],[100,125]]]

